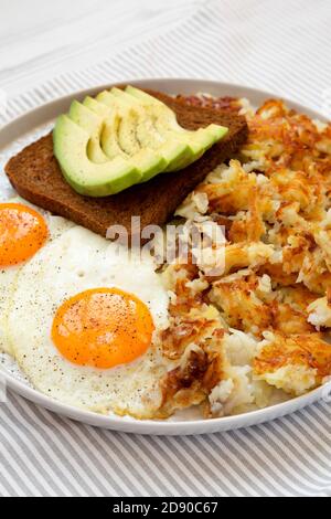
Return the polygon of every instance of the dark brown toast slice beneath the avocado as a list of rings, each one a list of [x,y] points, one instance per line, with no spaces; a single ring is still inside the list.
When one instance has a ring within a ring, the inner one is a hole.
[[[244,117],[189,106],[182,99],[159,92],[146,92],[173,109],[184,128],[194,130],[214,123],[228,127],[227,136],[182,171],[159,174],[149,182],[134,186],[113,197],[95,199],[76,193],[65,181],[53,155],[50,134],[28,146],[6,166],[6,173],[18,193],[103,236],[107,235],[110,225],[124,225],[131,237],[131,216],[140,216],[141,229],[169,221],[197,183],[217,165],[236,153],[247,139],[248,128]]]

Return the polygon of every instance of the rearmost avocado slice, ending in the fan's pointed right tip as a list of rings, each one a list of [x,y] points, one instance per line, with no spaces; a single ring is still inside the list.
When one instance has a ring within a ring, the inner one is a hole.
[[[151,110],[156,115],[156,126],[159,131],[166,131],[166,134],[174,133],[177,138],[184,142],[190,142],[193,158],[189,163],[200,158],[204,151],[221,140],[228,131],[227,128],[217,125],[210,125],[196,131],[186,130],[178,124],[175,114],[156,97],[134,86],[127,86],[126,94],[131,95],[135,99],[139,99],[146,109]]]

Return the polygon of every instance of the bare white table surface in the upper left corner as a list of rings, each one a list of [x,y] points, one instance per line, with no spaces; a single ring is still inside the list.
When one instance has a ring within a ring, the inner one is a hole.
[[[167,32],[205,0],[0,0],[0,87],[9,95]]]

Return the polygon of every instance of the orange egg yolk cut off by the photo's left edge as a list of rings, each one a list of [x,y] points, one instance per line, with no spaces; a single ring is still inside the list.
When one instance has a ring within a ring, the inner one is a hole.
[[[0,268],[30,260],[47,236],[40,213],[21,203],[0,203]]]

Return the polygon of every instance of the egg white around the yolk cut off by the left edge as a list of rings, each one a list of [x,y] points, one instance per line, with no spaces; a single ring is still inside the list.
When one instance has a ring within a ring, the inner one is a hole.
[[[65,220],[61,216],[53,216],[46,211],[43,211],[40,208],[36,208],[32,203],[26,202],[25,200],[21,199],[20,197],[12,198],[7,200],[2,203],[21,203],[29,208],[34,209],[39,213],[41,213],[47,224],[49,229],[49,240],[44,244],[44,247],[47,247],[50,243],[57,240],[65,231],[71,229],[74,224],[68,220]],[[36,255],[39,252],[36,253]],[[19,264],[14,266],[10,266],[8,268],[0,269],[0,351],[3,353],[12,354],[12,349],[8,340],[8,333],[6,330],[6,321],[9,311],[9,304],[12,298],[13,292],[15,289],[17,277],[19,272],[22,269],[24,264]]]

